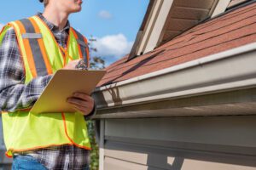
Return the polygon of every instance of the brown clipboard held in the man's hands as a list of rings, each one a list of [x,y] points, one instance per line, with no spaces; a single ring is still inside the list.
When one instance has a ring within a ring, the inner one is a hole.
[[[91,94],[106,71],[59,70],[32,106],[32,113],[75,112],[67,98],[74,92]]]

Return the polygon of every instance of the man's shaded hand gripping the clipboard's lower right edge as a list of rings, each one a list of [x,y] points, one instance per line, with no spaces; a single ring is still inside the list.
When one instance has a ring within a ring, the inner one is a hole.
[[[79,111],[84,116],[90,114],[94,107],[94,99],[88,94],[76,92],[67,99],[67,103],[73,105],[76,111]]]

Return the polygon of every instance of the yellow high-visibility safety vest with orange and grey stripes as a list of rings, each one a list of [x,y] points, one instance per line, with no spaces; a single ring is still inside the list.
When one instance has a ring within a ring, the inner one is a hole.
[[[4,26],[0,32],[0,45],[9,27],[15,29],[26,71],[26,84],[32,78],[54,74],[73,59],[85,58],[89,67],[88,42],[72,27],[66,49],[58,45],[48,26],[38,16],[16,20]],[[2,113],[8,157],[12,157],[14,152],[61,144],[74,144],[90,150],[86,122],[80,113],[34,114],[29,109]]]

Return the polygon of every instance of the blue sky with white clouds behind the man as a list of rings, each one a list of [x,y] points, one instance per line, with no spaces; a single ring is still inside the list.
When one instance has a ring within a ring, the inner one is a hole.
[[[84,0],[80,13],[72,14],[70,22],[86,37],[93,35],[97,54],[107,65],[131,50],[137,31],[143,21],[149,0]],[[11,20],[19,20],[43,11],[38,0],[3,1],[0,10],[0,27]]]

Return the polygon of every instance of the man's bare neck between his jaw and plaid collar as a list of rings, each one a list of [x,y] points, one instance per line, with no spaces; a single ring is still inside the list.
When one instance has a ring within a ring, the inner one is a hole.
[[[60,31],[67,25],[68,15],[65,12],[55,10],[55,8],[45,8],[43,13],[44,18],[58,26]]]

